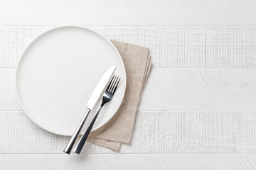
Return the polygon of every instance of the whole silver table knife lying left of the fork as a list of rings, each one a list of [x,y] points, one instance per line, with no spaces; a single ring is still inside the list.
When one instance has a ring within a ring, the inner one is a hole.
[[[100,79],[99,83],[95,87],[94,91],[92,92],[92,95],[89,98],[89,101],[87,102],[87,111],[85,112],[85,115],[82,117],[82,120],[80,121],[78,128],[75,129],[75,132],[73,136],[71,137],[70,141],[68,142],[68,145],[65,147],[63,152],[66,154],[70,154],[71,149],[73,145],[75,144],[75,140],[78,138],[78,135],[82,129],[82,125],[85,124],[85,120],[87,119],[90,111],[94,108],[95,104],[97,103],[98,99],[102,96],[102,93],[105,91],[107,88],[107,84],[110,81],[110,78],[112,77],[114,70],[116,69],[116,66],[112,66],[107,71],[105,74],[103,74],[102,78]]]

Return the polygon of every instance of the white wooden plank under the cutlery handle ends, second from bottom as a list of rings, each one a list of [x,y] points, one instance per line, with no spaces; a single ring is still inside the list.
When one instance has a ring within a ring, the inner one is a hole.
[[[255,111],[139,111],[121,153],[256,152]],[[23,112],[0,113],[0,153],[61,154],[70,137],[35,125]],[[85,153],[112,153],[90,143]]]

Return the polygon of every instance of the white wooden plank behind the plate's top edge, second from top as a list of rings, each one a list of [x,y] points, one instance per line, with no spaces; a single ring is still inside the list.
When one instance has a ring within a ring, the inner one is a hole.
[[[16,67],[25,47],[53,26],[1,26],[0,67]],[[256,68],[256,28],[90,26],[110,40],[148,47],[154,67]]]

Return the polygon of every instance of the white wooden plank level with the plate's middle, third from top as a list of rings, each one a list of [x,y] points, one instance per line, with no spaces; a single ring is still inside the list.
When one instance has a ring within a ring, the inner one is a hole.
[[[256,69],[156,68],[139,110],[256,110],[255,77]],[[14,69],[0,69],[0,111],[21,111],[14,79]]]

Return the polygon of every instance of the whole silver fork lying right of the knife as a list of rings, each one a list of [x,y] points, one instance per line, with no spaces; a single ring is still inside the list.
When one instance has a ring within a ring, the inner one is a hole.
[[[93,125],[95,124],[97,116],[99,115],[100,111],[102,110],[102,107],[105,106],[106,103],[109,103],[112,100],[114,93],[117,90],[117,86],[119,84],[120,79],[121,78],[119,78],[115,75],[112,77],[110,84],[107,86],[107,89],[105,90],[105,92],[102,96],[102,103],[100,105],[99,110],[93,117],[92,122],[88,126],[87,130],[85,130],[85,133],[82,135],[82,137],[78,141],[78,144],[75,146],[75,149],[73,150],[73,152],[80,154],[80,152],[82,151],[82,147],[85,145],[87,137],[89,136],[90,131],[92,130]]]

